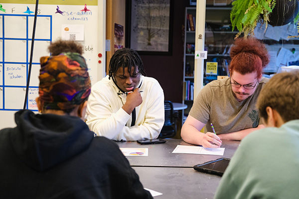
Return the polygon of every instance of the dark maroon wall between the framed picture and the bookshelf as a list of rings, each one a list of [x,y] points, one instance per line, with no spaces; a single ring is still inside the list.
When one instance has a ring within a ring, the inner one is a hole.
[[[183,93],[183,28],[185,7],[189,0],[173,0],[172,55],[141,55],[149,77],[159,81],[165,100],[182,102]]]

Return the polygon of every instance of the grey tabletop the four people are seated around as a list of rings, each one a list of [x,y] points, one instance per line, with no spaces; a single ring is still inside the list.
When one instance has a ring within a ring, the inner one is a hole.
[[[120,148],[149,148],[149,156],[127,156],[145,188],[160,192],[155,199],[213,199],[221,177],[195,171],[193,166],[217,158],[231,158],[240,141],[222,140],[223,156],[172,153],[177,145],[194,146],[181,139],[164,144],[117,142]]]

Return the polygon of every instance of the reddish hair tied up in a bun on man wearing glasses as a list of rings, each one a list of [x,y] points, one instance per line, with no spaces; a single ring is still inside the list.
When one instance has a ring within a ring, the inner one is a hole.
[[[236,39],[230,52],[230,71],[237,71],[242,75],[257,72],[262,75],[263,68],[269,63],[269,54],[266,46],[259,40],[249,37]]]

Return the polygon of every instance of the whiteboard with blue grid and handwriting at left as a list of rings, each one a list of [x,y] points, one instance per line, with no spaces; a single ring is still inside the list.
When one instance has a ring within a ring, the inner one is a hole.
[[[9,2],[9,3],[8,3]],[[60,4],[58,4],[60,3]],[[14,127],[14,113],[23,108],[35,0],[1,0],[0,11],[0,129]],[[86,8],[89,10],[84,11]],[[61,13],[57,12],[57,9]],[[91,84],[105,76],[105,0],[39,0],[28,90],[27,109],[37,112],[39,59],[49,56],[51,41],[62,37],[63,25],[81,25],[83,45]],[[76,35],[75,35],[76,36]],[[98,56],[102,54],[104,56]],[[99,63],[101,61],[101,63]]]

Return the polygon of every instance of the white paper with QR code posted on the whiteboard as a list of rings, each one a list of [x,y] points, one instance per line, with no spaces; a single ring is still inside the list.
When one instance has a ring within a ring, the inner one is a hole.
[[[61,38],[63,40],[84,41],[84,25],[62,24]]]

